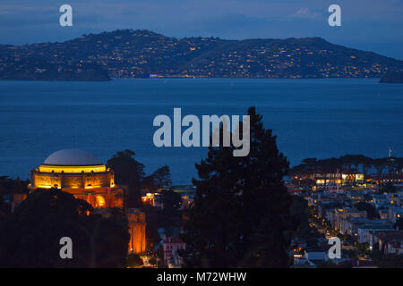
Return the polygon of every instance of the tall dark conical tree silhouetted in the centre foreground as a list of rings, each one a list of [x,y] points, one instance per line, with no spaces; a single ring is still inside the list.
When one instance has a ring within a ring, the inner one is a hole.
[[[210,147],[207,158],[196,164],[200,180],[193,179],[196,196],[184,226],[185,266],[289,265],[287,158],[254,107],[248,114],[248,156],[233,156],[234,147]]]

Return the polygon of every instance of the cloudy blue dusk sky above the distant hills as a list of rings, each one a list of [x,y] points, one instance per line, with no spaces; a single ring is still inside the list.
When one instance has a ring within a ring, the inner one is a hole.
[[[73,27],[59,25],[62,4],[73,6]],[[330,4],[341,6],[341,27],[328,24]],[[0,44],[150,29],[176,38],[322,37],[403,59],[402,15],[402,0],[2,0]]]

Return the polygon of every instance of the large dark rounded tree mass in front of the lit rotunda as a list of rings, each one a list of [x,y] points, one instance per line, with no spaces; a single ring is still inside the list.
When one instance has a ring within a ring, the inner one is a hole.
[[[0,267],[120,267],[125,265],[127,224],[93,214],[81,199],[39,189],[1,225]],[[59,255],[60,239],[73,240],[73,259]]]

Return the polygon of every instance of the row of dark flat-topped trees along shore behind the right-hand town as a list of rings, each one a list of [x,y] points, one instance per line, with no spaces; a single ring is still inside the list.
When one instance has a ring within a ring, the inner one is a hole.
[[[403,157],[371,158],[364,155],[345,155],[339,158],[306,158],[302,164],[294,166],[290,174],[300,173],[335,173],[335,172],[363,172],[364,175],[376,171],[382,175],[385,171],[388,174],[396,174],[403,169]]]

